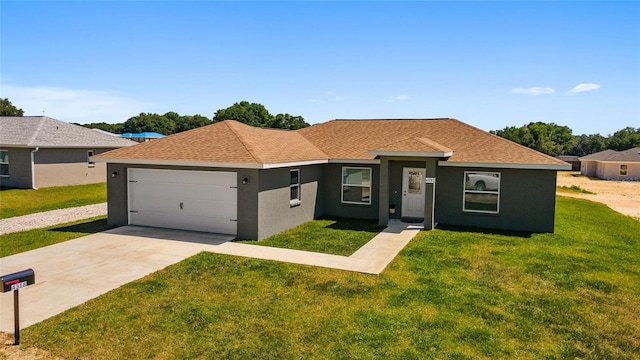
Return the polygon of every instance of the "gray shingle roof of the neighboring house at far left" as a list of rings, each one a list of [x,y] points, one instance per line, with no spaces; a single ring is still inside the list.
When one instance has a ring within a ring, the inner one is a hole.
[[[47,116],[0,116],[0,145],[42,148],[120,148],[134,141]]]

